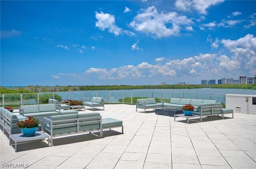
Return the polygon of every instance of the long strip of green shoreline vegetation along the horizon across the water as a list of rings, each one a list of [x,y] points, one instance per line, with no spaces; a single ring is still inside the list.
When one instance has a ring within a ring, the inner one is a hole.
[[[106,86],[0,86],[0,94],[68,92],[79,90],[132,90],[132,89],[192,89],[192,88],[234,88],[256,90],[256,84],[237,85],[106,85]]]

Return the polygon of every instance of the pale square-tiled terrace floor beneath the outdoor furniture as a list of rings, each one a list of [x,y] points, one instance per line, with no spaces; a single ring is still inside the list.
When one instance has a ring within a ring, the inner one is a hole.
[[[102,118],[123,121],[121,128],[9,146],[0,131],[1,167],[27,169],[239,169],[256,167],[256,116],[234,113],[190,120],[146,114],[135,105],[106,104]],[[80,111],[84,112],[84,111]],[[92,112],[90,108],[85,112]],[[19,165],[20,167],[16,167]]]

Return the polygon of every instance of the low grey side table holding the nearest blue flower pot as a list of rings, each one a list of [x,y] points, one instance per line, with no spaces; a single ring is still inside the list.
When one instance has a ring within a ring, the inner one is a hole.
[[[22,133],[18,133],[18,134],[11,134],[10,135],[10,140],[9,140],[9,145],[11,145],[11,139],[14,141],[15,143],[15,152],[17,152],[17,143],[20,142],[27,142],[27,141],[36,141],[36,140],[42,140],[42,139],[46,139],[48,138],[48,147],[50,145],[50,136],[39,131],[36,132],[36,134],[34,136],[24,136]],[[13,144],[12,144],[13,145]]]

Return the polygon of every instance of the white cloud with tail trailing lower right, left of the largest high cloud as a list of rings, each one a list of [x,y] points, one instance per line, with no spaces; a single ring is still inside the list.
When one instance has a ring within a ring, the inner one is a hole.
[[[110,33],[114,33],[116,36],[121,34],[127,34],[129,36],[135,35],[131,31],[123,30],[122,28],[116,26],[114,15],[110,15],[107,13],[104,14],[103,12],[95,12],[95,17],[98,20],[95,25],[102,31],[108,29]]]

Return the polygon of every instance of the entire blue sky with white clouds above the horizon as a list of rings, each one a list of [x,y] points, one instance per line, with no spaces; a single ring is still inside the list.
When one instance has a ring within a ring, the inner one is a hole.
[[[0,1],[2,86],[256,74],[256,1]]]

